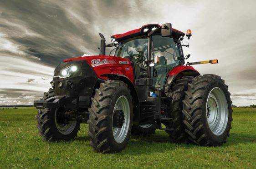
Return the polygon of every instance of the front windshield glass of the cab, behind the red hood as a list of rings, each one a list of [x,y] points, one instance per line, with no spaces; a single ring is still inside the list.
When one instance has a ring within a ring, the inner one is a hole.
[[[127,58],[138,63],[147,60],[148,39],[139,38],[119,43],[115,56]]]

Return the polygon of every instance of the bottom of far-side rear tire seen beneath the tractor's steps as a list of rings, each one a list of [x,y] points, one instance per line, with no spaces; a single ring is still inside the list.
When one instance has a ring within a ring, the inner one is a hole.
[[[140,136],[150,136],[155,133],[156,125],[151,124],[149,126],[143,125],[133,125],[132,134],[133,135],[140,135]]]

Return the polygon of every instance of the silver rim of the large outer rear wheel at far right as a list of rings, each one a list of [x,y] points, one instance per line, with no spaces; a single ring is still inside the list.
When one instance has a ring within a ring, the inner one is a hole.
[[[224,133],[228,123],[228,103],[222,89],[211,89],[206,102],[206,118],[210,130],[215,135]]]

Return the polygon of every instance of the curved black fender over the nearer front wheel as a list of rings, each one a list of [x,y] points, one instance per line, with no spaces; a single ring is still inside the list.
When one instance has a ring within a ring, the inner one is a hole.
[[[109,80],[121,80],[128,85],[128,88],[131,90],[133,96],[133,124],[138,125],[140,120],[138,95],[132,81],[129,80],[127,76],[120,74],[103,74],[101,76],[107,77]]]

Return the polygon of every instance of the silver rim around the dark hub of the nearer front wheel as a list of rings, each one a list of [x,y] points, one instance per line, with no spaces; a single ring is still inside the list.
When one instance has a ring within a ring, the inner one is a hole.
[[[129,130],[130,125],[130,104],[125,96],[120,96],[116,101],[114,110],[123,110],[124,113],[124,123],[122,128],[115,128],[113,127],[113,115],[112,115],[112,131],[114,139],[117,143],[123,143],[124,139],[126,138]],[[113,112],[114,114],[114,112]]]

